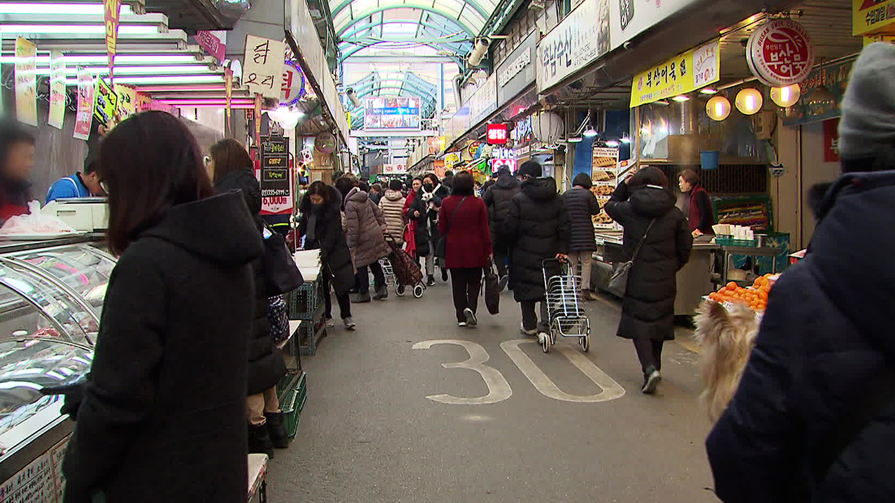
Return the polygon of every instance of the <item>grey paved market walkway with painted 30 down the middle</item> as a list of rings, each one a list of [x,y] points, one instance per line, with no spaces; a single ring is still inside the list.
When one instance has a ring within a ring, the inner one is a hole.
[[[717,500],[694,353],[666,345],[660,392],[644,396],[616,303],[587,304],[583,356],[574,339],[542,354],[519,335],[509,293],[499,316],[482,303],[477,329],[456,328],[450,299],[439,282],[355,305],[358,330],[330,329],[303,359],[309,399],[270,464],[270,501]]]

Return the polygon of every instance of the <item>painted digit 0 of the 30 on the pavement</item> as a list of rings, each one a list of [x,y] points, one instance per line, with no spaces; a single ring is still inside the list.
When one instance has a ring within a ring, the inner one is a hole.
[[[593,384],[596,384],[601,388],[601,392],[596,395],[570,395],[559,389],[558,386],[547,377],[547,374],[545,374],[544,371],[541,371],[538,365],[522,351],[522,348],[519,347],[522,344],[536,343],[530,339],[516,339],[500,343],[500,348],[510,357],[510,360],[516,363],[516,367],[519,367],[519,370],[522,371],[525,377],[532,382],[534,388],[537,388],[543,396],[548,396],[564,402],[595,403],[614,400],[625,395],[625,388],[622,388],[615,379],[610,378],[606,372],[601,371],[600,367],[594,365],[593,362],[584,356],[584,354],[578,353],[578,351],[572,347],[557,345],[554,347],[556,347],[560,353],[566,355],[569,362],[572,362],[572,364],[574,364],[578,370],[582,371],[588,379],[591,379]]]

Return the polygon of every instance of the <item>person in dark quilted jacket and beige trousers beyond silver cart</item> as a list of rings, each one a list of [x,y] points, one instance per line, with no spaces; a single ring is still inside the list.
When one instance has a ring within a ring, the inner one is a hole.
[[[597,197],[591,192],[591,177],[586,173],[575,175],[571,189],[562,199],[568,209],[568,260],[572,270],[581,264],[581,291],[587,300],[597,297],[591,292],[591,260],[597,251],[597,240],[593,234],[592,216],[600,213]]]

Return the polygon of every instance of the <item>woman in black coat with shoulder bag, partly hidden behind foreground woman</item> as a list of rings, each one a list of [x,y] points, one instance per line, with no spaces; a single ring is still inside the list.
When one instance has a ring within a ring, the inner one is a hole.
[[[260,218],[261,189],[251,173],[251,158],[235,140],[221,140],[211,147],[211,165],[215,191],[242,191],[258,232],[263,229]],[[264,260],[252,262],[255,273],[255,320],[249,335],[249,381],[246,401],[249,417],[249,452],[273,457],[273,448],[288,448],[289,439],[283,425],[283,413],[277,401],[277,382],[286,375],[283,354],[274,344],[268,321],[268,295],[264,289]]]

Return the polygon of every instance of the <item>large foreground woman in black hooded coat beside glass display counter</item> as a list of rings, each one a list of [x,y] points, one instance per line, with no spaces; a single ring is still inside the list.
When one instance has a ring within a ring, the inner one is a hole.
[[[109,280],[63,463],[65,503],[244,503],[251,263],[263,254],[243,196],[214,196],[174,115],[107,133]]]

